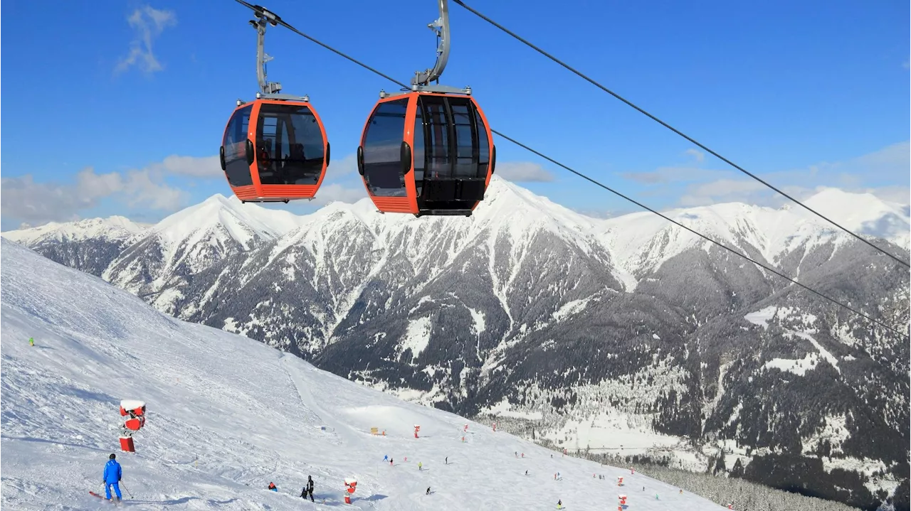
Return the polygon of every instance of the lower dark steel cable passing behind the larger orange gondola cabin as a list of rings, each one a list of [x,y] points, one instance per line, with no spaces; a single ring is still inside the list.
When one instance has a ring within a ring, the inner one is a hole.
[[[250,5],[250,4],[247,4],[246,2],[244,2],[243,0],[234,0],[234,1],[235,1],[235,2],[238,2],[239,4],[246,5],[246,6],[250,7],[251,9],[254,9],[254,10],[256,10],[256,9],[262,9],[262,7],[260,7],[259,5],[255,5],[255,6],[254,6],[254,5]],[[457,2],[458,0],[454,0],[454,1]],[[264,9],[263,9],[263,10],[264,10]],[[268,11],[267,11],[267,12],[268,12]],[[401,85],[401,86],[403,86],[403,87],[405,87],[405,88],[410,88],[410,87],[407,87],[406,85],[404,85],[402,82],[399,82],[398,80],[395,80],[394,78],[391,78],[390,76],[385,75],[384,73],[381,73],[380,71],[377,71],[377,70],[374,69],[373,67],[371,67],[371,66],[369,66],[369,65],[365,65],[365,64],[363,64],[362,62],[358,61],[357,59],[355,59],[355,58],[353,58],[353,57],[351,57],[351,56],[348,56],[348,55],[343,54],[341,51],[336,50],[336,49],[333,48],[332,46],[326,45],[326,44],[322,43],[321,41],[318,41],[317,39],[314,39],[314,38],[311,37],[310,35],[306,35],[306,34],[302,33],[300,30],[298,30],[298,29],[292,27],[292,25],[288,25],[288,24],[285,23],[284,21],[281,21],[281,18],[280,18],[279,16],[275,15],[275,18],[276,18],[276,22],[279,23],[280,25],[283,25],[283,26],[287,27],[289,30],[292,30],[292,32],[294,32],[294,33],[296,33],[296,34],[298,34],[298,35],[302,35],[303,37],[309,39],[310,41],[312,41],[313,43],[316,43],[317,45],[321,45],[322,47],[324,47],[324,48],[326,48],[326,49],[332,51],[334,54],[343,56],[344,58],[346,58],[347,60],[353,62],[354,64],[360,65],[360,66],[362,66],[364,69],[367,69],[367,70],[369,70],[369,71],[372,71],[372,72],[375,73],[376,75],[383,76],[384,78],[386,78],[387,80],[393,82],[394,84]],[[756,261],[755,259],[753,259],[753,258],[750,257],[749,255],[741,254],[740,252],[734,250],[734,249],[731,248],[730,246],[724,245],[723,243],[721,243],[721,242],[719,242],[719,241],[716,241],[716,240],[712,239],[712,238],[709,237],[708,235],[703,235],[703,234],[701,234],[699,231],[696,231],[696,230],[692,229],[691,227],[688,227],[688,226],[686,226],[686,225],[681,224],[680,222],[678,222],[678,221],[676,221],[676,220],[670,218],[670,216],[664,215],[664,214],[660,213],[658,210],[652,209],[652,208],[649,207],[648,205],[644,205],[644,204],[640,203],[639,201],[637,201],[636,199],[633,199],[632,197],[630,197],[630,196],[628,196],[628,195],[624,195],[624,194],[622,194],[621,192],[619,192],[619,191],[617,191],[617,190],[614,190],[614,189],[611,188],[610,186],[604,185],[603,183],[601,183],[601,182],[599,182],[599,181],[597,181],[597,180],[595,180],[595,179],[589,177],[588,175],[585,175],[585,174],[582,174],[581,172],[578,172],[577,170],[575,170],[575,169],[569,167],[568,165],[564,165],[564,164],[558,162],[558,161],[555,160],[554,158],[551,158],[550,156],[545,155],[545,154],[543,154],[543,153],[537,151],[537,149],[534,149],[534,148],[532,148],[532,147],[530,147],[530,146],[528,146],[528,145],[525,145],[525,144],[523,144],[523,143],[517,141],[515,138],[512,138],[512,137],[510,137],[510,136],[504,135],[504,134],[502,134],[502,133],[496,131],[496,130],[493,129],[493,128],[491,128],[490,131],[493,132],[493,133],[495,133],[496,135],[499,135],[499,136],[505,138],[505,139],[508,140],[509,142],[512,142],[513,144],[518,145],[519,147],[522,147],[523,149],[527,150],[528,152],[533,153],[533,154],[535,154],[535,155],[537,155],[537,156],[540,156],[540,157],[542,157],[542,158],[548,160],[549,162],[553,163],[554,165],[558,165],[558,166],[560,166],[560,167],[562,167],[562,168],[568,170],[568,171],[571,172],[572,174],[578,175],[578,176],[581,177],[582,179],[585,179],[586,181],[589,181],[589,183],[591,183],[591,184],[593,184],[593,185],[596,185],[596,186],[599,186],[600,188],[603,188],[603,189],[609,191],[610,193],[612,193],[612,194],[614,194],[614,195],[617,195],[617,196],[619,196],[620,198],[622,198],[622,199],[624,199],[624,200],[627,200],[627,201],[631,202],[631,203],[634,204],[634,205],[638,205],[638,206],[640,206],[641,208],[643,208],[643,209],[649,211],[650,213],[653,213],[653,214],[655,214],[655,215],[659,215],[661,218],[663,218],[663,219],[669,221],[671,224],[677,225],[677,226],[679,226],[679,227],[681,227],[681,228],[683,228],[683,229],[685,229],[685,230],[691,232],[692,234],[697,235],[697,236],[701,237],[702,239],[711,242],[711,243],[714,244],[714,245],[718,245],[718,246],[722,247],[724,250],[727,250],[728,252],[732,253],[733,255],[738,255],[738,256],[742,257],[743,259],[746,259],[747,261],[750,261],[753,265],[760,266],[760,267],[762,267],[763,269],[765,269],[766,271],[769,271],[769,272],[773,273],[773,274],[776,275],[776,276],[780,276],[780,277],[782,277],[783,279],[785,279],[785,280],[791,282],[792,284],[794,284],[794,285],[796,285],[796,286],[799,286],[799,287],[801,287],[801,288],[803,288],[803,289],[805,289],[805,290],[807,290],[807,291],[813,293],[813,294],[816,295],[816,296],[820,296],[820,297],[824,298],[825,300],[827,300],[827,301],[833,303],[833,304],[836,305],[836,306],[840,306],[840,307],[844,308],[845,310],[848,310],[848,311],[854,313],[854,314],[857,315],[857,316],[861,316],[861,317],[865,318],[867,321],[869,321],[870,323],[872,323],[872,324],[874,324],[874,325],[876,325],[876,326],[881,326],[881,327],[883,327],[886,331],[891,332],[891,333],[894,333],[894,334],[898,335],[900,338],[903,338],[903,339],[904,339],[904,338],[907,337],[906,334],[903,333],[903,332],[901,332],[900,330],[898,330],[898,329],[896,329],[896,328],[894,328],[894,327],[892,327],[892,326],[888,326],[888,325],[886,325],[885,323],[883,323],[882,321],[879,321],[878,319],[875,319],[875,318],[872,317],[872,316],[868,316],[868,315],[866,315],[864,312],[862,312],[862,311],[860,311],[860,310],[857,310],[857,309],[855,309],[855,308],[852,307],[852,306],[845,305],[844,303],[839,302],[838,300],[834,299],[834,298],[831,297],[831,296],[824,295],[822,292],[816,291],[814,288],[812,288],[812,287],[810,287],[810,286],[806,286],[806,285],[804,285],[804,284],[801,284],[800,282],[797,282],[797,281],[794,280],[793,278],[784,275],[783,273],[779,272],[778,270],[774,269],[773,267],[763,265],[763,263],[760,263],[759,261]],[[898,260],[898,259],[896,259],[896,260]],[[898,261],[901,262],[900,260],[898,260]]]

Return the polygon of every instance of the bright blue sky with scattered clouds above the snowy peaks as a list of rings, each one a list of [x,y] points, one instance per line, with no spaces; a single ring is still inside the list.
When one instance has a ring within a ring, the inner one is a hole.
[[[433,65],[433,0],[263,0],[401,81]],[[911,202],[911,3],[472,0],[469,5],[787,191],[872,190]],[[451,4],[442,82],[471,85],[498,130],[659,208],[744,200],[761,185]],[[0,33],[0,229],[127,215],[155,221],[230,188],[215,155],[255,94],[251,12],[230,0],[16,3]],[[11,18],[12,19],[12,18]],[[270,79],[308,94],[333,145],[307,212],[364,196],[353,173],[381,88],[281,27]],[[500,174],[579,211],[635,206],[498,139]]]

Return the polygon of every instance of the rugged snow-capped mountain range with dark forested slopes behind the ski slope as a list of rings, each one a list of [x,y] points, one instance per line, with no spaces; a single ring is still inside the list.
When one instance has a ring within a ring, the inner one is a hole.
[[[907,206],[832,189],[807,204],[911,260]],[[888,325],[911,319],[906,269],[799,206],[669,215]],[[495,178],[467,218],[366,199],[295,216],[216,195],[100,270],[32,236],[9,237],[172,316],[558,446],[873,509],[911,476],[906,340],[647,213],[589,218]],[[760,313],[767,325],[747,319]]]

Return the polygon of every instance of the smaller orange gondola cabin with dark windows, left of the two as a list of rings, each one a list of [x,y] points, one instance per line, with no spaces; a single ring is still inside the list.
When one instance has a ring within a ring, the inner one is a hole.
[[[329,166],[329,141],[310,103],[257,99],[234,110],[220,160],[242,202],[311,199]]]

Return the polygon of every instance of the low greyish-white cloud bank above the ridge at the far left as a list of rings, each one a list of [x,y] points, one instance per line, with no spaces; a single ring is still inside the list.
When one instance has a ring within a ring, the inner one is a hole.
[[[36,183],[31,175],[0,177],[0,218],[41,225],[79,218],[107,197],[130,207],[171,211],[183,205],[187,194],[161,183],[147,171],[96,174],[91,167],[76,175],[75,183]]]

